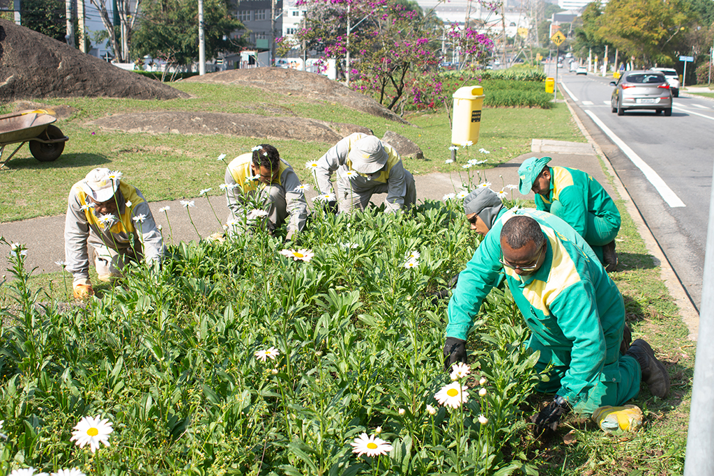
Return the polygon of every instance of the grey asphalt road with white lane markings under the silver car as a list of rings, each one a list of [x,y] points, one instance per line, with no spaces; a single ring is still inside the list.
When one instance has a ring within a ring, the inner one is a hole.
[[[714,161],[714,101],[680,96],[671,117],[653,111],[617,116],[610,108],[612,79],[559,69],[558,81],[698,309]]]

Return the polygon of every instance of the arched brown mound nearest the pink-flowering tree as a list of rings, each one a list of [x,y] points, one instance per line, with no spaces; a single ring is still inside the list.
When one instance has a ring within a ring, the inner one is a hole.
[[[261,88],[270,93],[286,96],[301,96],[313,101],[340,103],[343,106],[408,124],[403,118],[382,106],[372,98],[352,91],[342,83],[328,79],[321,74],[283,68],[231,69],[203,76],[191,76],[183,81],[200,83],[224,83]]]

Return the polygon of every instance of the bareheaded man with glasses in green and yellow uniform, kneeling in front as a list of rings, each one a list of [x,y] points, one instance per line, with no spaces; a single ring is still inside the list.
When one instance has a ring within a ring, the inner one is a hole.
[[[669,376],[644,340],[623,355],[625,306],[593,250],[572,227],[543,211],[511,210],[486,234],[459,275],[448,305],[444,367],[466,362],[466,338],[481,303],[501,270],[539,350],[536,368],[548,381],[536,390],[555,393],[533,417],[538,432],[555,429],[571,408],[592,413],[635,397],[640,380],[665,397]]]

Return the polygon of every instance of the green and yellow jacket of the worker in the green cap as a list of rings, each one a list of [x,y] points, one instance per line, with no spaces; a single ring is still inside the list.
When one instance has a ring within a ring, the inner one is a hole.
[[[555,216],[575,228],[580,236],[588,232],[588,213],[604,218],[615,228],[620,228],[620,212],[603,186],[588,173],[568,167],[550,167],[550,192],[548,198],[535,194],[535,208],[550,213],[553,202],[560,207]]]

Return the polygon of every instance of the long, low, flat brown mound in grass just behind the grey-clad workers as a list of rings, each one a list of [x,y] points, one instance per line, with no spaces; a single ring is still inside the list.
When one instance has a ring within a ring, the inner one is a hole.
[[[372,133],[368,128],[354,124],[327,123],[301,117],[184,111],[113,114],[88,124],[134,133],[225,134],[326,143],[335,143],[353,132]]]

